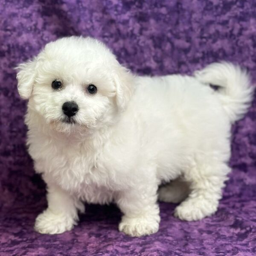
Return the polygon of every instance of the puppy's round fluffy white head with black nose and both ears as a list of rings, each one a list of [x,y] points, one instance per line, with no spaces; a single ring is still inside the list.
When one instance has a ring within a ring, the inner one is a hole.
[[[20,96],[61,132],[97,129],[114,122],[133,91],[133,76],[93,38],[51,42],[18,69]]]

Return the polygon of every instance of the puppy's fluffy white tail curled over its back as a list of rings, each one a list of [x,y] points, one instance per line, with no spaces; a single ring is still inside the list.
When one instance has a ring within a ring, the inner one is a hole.
[[[218,87],[215,93],[232,123],[244,116],[252,102],[254,91],[245,70],[228,62],[220,62],[210,64],[194,75],[198,81]]]

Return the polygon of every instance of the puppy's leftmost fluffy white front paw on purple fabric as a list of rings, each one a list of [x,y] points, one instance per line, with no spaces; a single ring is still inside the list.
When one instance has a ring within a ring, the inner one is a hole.
[[[35,220],[35,231],[41,234],[61,234],[73,229],[76,221],[69,215],[55,214],[45,210]]]

